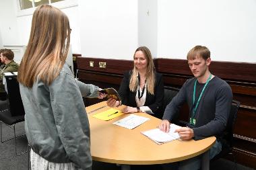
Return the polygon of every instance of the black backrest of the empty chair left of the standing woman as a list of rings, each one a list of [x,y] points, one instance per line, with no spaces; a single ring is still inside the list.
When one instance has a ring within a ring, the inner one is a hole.
[[[22,116],[25,114],[22,97],[20,96],[20,86],[17,76],[5,76],[7,93],[9,98],[9,108],[11,116]]]

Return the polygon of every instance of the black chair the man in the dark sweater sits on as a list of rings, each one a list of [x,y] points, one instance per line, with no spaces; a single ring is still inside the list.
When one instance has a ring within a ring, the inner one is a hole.
[[[233,147],[233,130],[234,130],[234,124],[236,122],[237,112],[238,108],[240,106],[240,102],[236,100],[232,100],[232,105],[230,108],[230,114],[228,116],[228,122],[226,124],[226,130],[224,130],[224,135],[222,136],[222,151],[216,155],[211,161],[215,161],[217,159],[220,159],[222,157],[225,157],[226,155],[232,155],[234,159],[234,166],[236,169],[236,159],[234,157],[234,154],[232,153],[232,147]]]

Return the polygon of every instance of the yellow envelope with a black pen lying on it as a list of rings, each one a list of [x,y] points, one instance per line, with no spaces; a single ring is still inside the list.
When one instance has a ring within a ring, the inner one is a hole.
[[[94,114],[94,118],[98,118],[100,120],[111,120],[113,118],[117,118],[121,116],[123,113],[120,110],[115,110],[113,108],[106,110],[104,112],[100,112],[98,114]]]

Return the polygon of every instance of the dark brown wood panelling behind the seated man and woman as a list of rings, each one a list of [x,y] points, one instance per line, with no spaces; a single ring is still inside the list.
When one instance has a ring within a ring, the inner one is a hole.
[[[119,89],[123,73],[133,68],[132,60],[77,57],[76,61],[78,78],[102,88]],[[90,61],[94,62],[94,67],[90,67]],[[99,68],[98,62],[106,62],[106,69]],[[154,63],[156,71],[164,77],[165,88],[179,89],[193,77],[187,60],[157,58]],[[256,169],[256,64],[212,61],[210,71],[227,81],[234,99],[241,101],[234,128],[234,153],[238,163]],[[87,105],[96,102],[98,99],[86,99]],[[187,112],[183,110],[180,118],[187,121]]]

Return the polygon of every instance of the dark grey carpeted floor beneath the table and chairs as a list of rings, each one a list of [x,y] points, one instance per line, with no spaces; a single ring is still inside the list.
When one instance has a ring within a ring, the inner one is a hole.
[[[13,129],[7,127],[5,124],[2,125],[3,128],[3,140],[10,138],[13,136]],[[17,124],[15,129],[18,135],[24,134],[24,122]],[[26,136],[22,136],[17,140],[17,148],[18,152],[26,151],[27,148],[27,140]],[[7,142],[0,143],[0,170],[26,170],[28,169],[28,153],[24,155],[15,155],[15,145],[14,140],[8,140]],[[94,161],[92,165],[92,169],[94,170],[121,170],[120,166],[112,163],[101,163],[98,161]],[[161,165],[131,165],[131,170],[165,170],[166,167],[162,167]],[[225,169],[231,170],[234,169],[234,163],[231,161],[227,161],[226,159],[219,159],[218,161],[214,161],[210,164],[210,169]],[[249,167],[245,167],[243,165],[237,164],[237,170],[253,170]],[[168,169],[170,170],[170,169]]]

